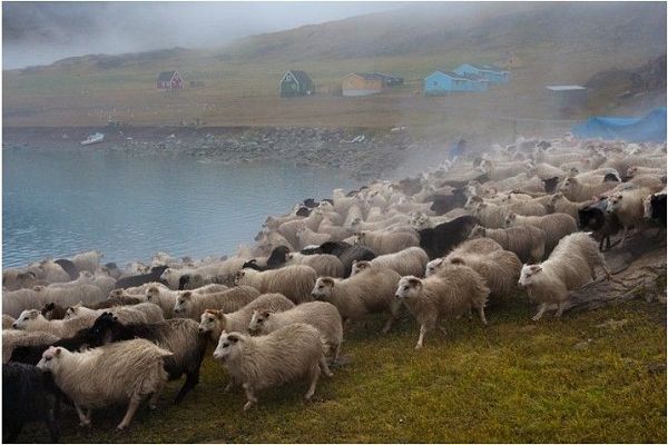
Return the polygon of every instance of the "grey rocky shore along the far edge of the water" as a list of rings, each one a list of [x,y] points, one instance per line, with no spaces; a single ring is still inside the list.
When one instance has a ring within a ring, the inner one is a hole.
[[[95,132],[100,144],[79,142]],[[275,127],[104,127],[4,128],[3,149],[90,151],[107,150],[129,156],[189,156],[202,161],[235,165],[281,161],[344,169],[358,180],[385,178],[418,150],[405,128],[332,129]],[[433,148],[433,147],[432,147]]]

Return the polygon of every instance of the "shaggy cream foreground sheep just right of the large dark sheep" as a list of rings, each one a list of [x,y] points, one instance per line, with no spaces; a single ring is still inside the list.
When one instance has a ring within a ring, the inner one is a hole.
[[[276,350],[281,350],[281,355],[276,355]],[[321,370],[326,376],[332,375],[324,353],[320,332],[296,323],[262,337],[223,334],[214,358],[223,360],[232,380],[242,384],[248,400],[244,411],[247,411],[257,403],[257,390],[302,377],[310,382],[304,397],[311,399]]]

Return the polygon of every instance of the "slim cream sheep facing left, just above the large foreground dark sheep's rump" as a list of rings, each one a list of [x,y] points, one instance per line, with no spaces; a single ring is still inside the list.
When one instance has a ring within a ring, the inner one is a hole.
[[[250,286],[238,286],[218,294],[197,295],[186,290],[176,298],[174,314],[177,317],[199,320],[206,309],[220,309],[224,313],[233,313],[258,296],[259,291]]]

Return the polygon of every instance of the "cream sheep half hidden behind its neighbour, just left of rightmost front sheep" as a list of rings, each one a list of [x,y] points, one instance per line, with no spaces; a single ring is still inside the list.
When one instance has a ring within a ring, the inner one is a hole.
[[[469,266],[475,270],[490,288],[490,296],[504,298],[515,291],[515,283],[520,278],[522,263],[512,251],[495,250],[489,254],[450,254],[444,261],[453,265]],[[436,268],[436,275],[442,267]]]

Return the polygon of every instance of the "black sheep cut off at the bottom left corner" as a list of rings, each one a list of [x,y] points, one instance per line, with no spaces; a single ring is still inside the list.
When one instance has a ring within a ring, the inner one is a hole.
[[[16,442],[27,422],[46,423],[51,442],[58,442],[55,389],[50,373],[22,363],[3,364],[2,442]]]

